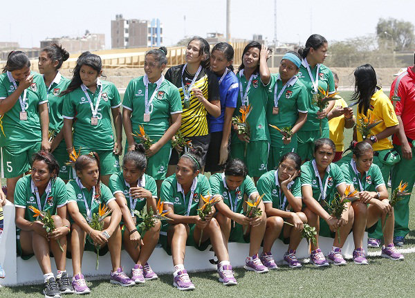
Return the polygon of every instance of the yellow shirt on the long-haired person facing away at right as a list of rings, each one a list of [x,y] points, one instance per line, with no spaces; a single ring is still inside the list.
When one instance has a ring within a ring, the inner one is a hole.
[[[363,111],[363,109],[362,109]],[[363,113],[359,113],[358,108],[358,124],[360,123],[360,118],[362,118]],[[383,93],[382,89],[376,91],[374,95],[372,95],[370,100],[370,106],[367,110],[367,116],[371,115],[375,121],[382,120],[380,124],[376,125],[373,129],[371,129],[371,136],[377,135],[381,131],[387,129],[387,127],[394,127],[399,124],[398,118],[396,118],[396,113],[394,111],[394,106],[392,106],[389,97],[385,93]],[[358,141],[361,142],[362,135],[358,131]],[[392,145],[391,140],[389,138],[384,138],[382,140],[378,140],[378,142],[374,143],[372,146],[374,151],[380,151],[385,149],[391,149],[394,146]]]

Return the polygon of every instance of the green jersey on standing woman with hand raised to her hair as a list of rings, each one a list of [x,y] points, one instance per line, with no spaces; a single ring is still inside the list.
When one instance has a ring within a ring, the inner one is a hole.
[[[249,80],[246,80],[245,75],[243,75],[243,71],[239,71],[239,73],[237,73],[237,77],[239,80],[239,95],[237,100],[237,108],[234,111],[234,116],[241,115],[239,112],[239,108],[241,108],[241,106],[248,106],[250,104],[251,111],[247,118],[247,122],[250,127],[250,142],[258,140],[269,140],[268,123],[266,122],[266,102],[268,100],[268,92],[270,90],[270,86],[273,85],[272,80],[275,79],[271,77],[268,85],[264,86],[264,84],[261,82],[259,73],[252,74],[250,77],[250,79],[252,78],[251,84],[246,97],[247,100],[244,100],[243,98],[245,97]],[[232,142],[241,142],[236,133],[233,133],[232,135]]]

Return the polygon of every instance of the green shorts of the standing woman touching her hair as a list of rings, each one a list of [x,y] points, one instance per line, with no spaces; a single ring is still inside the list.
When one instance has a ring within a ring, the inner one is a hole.
[[[251,177],[261,177],[268,169],[268,154],[270,144],[266,140],[252,141],[247,144],[237,142],[230,147],[232,158],[239,158],[246,163],[248,175]],[[245,154],[246,148],[246,154]],[[250,158],[248,158],[248,156]]]

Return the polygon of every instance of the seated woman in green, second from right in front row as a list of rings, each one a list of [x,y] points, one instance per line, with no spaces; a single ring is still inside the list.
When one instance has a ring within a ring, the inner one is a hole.
[[[319,139],[315,142],[314,159],[304,162],[301,167],[302,198],[306,205],[303,212],[307,216],[308,224],[317,230],[316,243],[311,243],[310,255],[315,266],[329,266],[319,248],[318,235],[334,238],[329,262],[334,265],[346,264],[341,252],[353,225],[353,208],[350,208],[350,202],[344,203],[340,218],[328,212],[329,204],[336,196],[343,198],[346,189],[342,170],[332,163],[334,153],[335,145],[332,140]]]

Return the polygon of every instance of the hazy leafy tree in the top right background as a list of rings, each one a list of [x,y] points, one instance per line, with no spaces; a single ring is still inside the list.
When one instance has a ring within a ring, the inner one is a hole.
[[[410,21],[380,18],[376,26],[376,35],[380,47],[396,51],[408,50],[415,41],[414,24]]]

